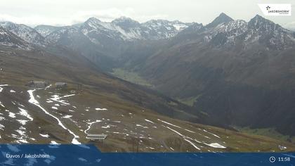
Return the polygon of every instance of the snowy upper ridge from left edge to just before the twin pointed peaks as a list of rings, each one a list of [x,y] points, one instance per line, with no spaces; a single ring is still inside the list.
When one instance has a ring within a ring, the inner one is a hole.
[[[91,44],[101,48],[107,47],[110,42],[135,41],[135,40],[158,40],[175,36],[181,30],[192,23],[181,23],[178,20],[150,20],[146,23],[138,23],[131,18],[118,18],[111,23],[105,23],[97,18],[89,18],[85,23],[55,27],[51,25],[27,25],[11,22],[0,22],[0,26],[20,37],[28,44],[46,46],[50,44],[70,44],[71,39],[77,35],[85,38]],[[72,41],[74,42],[74,41]],[[11,43],[13,45],[13,43]]]

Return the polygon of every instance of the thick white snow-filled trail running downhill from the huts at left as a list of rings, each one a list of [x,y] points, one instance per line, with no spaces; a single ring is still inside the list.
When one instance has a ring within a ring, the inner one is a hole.
[[[63,129],[66,129],[67,132],[70,132],[70,134],[72,134],[74,136],[74,138],[72,139],[72,143],[73,144],[81,144],[77,139],[79,139],[79,136],[77,136],[76,134],[74,134],[74,132],[72,132],[70,129],[67,129],[67,127],[65,127],[65,125],[63,125],[63,123],[60,121],[60,119],[58,119],[58,117],[55,117],[54,115],[52,115],[51,113],[48,113],[47,110],[45,110],[39,103],[39,101],[37,101],[34,97],[33,92],[34,90],[28,90],[27,92],[29,93],[29,103],[34,104],[35,106],[39,107],[41,110],[44,111],[44,113],[46,113],[47,115],[50,115],[51,117],[53,117],[55,120],[58,121],[58,125],[60,125],[60,127],[63,127]]]

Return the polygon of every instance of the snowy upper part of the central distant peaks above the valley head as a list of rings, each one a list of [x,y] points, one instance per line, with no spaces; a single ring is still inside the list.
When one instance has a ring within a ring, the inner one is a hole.
[[[39,32],[46,34],[48,41],[53,39],[53,42],[56,42],[61,35],[68,33],[68,30],[74,28],[74,30],[83,33],[93,43],[100,44],[101,39],[117,41],[167,39],[181,32],[188,25],[190,23],[168,20],[150,20],[140,24],[136,20],[126,17],[117,18],[110,23],[106,23],[97,18],[89,18],[89,20],[80,25],[60,27],[53,32],[50,32],[48,29],[39,30]],[[38,29],[40,28],[38,27]]]

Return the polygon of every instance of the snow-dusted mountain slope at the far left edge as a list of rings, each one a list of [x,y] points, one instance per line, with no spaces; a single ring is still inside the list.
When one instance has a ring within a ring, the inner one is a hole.
[[[39,46],[46,45],[44,37],[42,37],[41,34],[39,34],[39,32],[34,30],[32,27],[11,22],[1,22],[0,25],[6,30],[13,32],[13,34],[17,35],[21,39],[27,41],[29,44],[36,44]]]

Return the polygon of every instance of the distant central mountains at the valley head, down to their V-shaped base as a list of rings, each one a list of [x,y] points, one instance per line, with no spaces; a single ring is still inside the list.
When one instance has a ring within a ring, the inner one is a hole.
[[[131,18],[117,18],[105,23],[89,18],[85,23],[52,27],[39,25],[35,29],[45,36],[48,44],[66,46],[79,51],[103,70],[111,71],[118,57],[137,41],[168,39],[188,27],[190,23],[150,20],[138,23]]]

